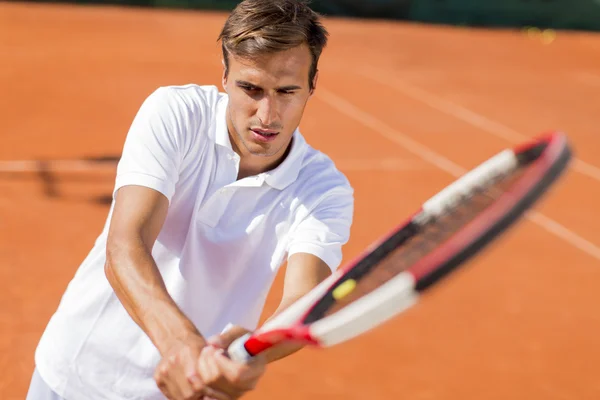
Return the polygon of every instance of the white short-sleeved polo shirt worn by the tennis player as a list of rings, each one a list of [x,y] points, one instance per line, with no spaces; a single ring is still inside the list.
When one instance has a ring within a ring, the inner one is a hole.
[[[286,257],[311,253],[335,270],[353,215],[349,182],[298,130],[276,169],[238,181],[227,102],[214,86],[155,91],[129,130],[115,185],[147,186],[169,199],[152,254],[205,336],[231,324],[256,328]],[[112,207],[40,340],[36,366],[67,400],[163,399],[153,380],[160,354],[104,275],[111,214]]]

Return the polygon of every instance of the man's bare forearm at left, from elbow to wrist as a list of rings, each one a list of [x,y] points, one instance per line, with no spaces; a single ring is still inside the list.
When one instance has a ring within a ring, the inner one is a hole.
[[[200,335],[169,295],[141,239],[110,247],[105,272],[118,299],[161,354],[187,335]]]

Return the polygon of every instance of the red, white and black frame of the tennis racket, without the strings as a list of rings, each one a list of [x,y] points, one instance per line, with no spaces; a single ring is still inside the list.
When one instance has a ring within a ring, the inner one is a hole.
[[[543,144],[543,152],[529,163],[510,191],[503,192],[481,215],[467,223],[438,248],[376,291],[362,296],[332,315],[309,324],[304,323],[323,296],[343,282],[349,271],[361,261],[364,262],[386,241],[411,224],[424,224],[430,218],[441,215],[446,207],[456,204],[462,196],[469,193],[477,182],[486,181],[500,171],[517,167],[520,155]],[[228,349],[230,357],[240,362],[248,362],[253,355],[282,341],[329,347],[369,331],[410,308],[417,302],[421,292],[464,264],[526,212],[566,169],[570,157],[567,139],[560,132],[543,135],[537,140],[498,153],[425,201],[421,209],[408,220],[373,242],[348,264],[339,268],[261,328],[235,340]],[[506,210],[510,211],[507,213]],[[461,248],[462,250],[459,250]],[[453,255],[448,257],[448,254]]]

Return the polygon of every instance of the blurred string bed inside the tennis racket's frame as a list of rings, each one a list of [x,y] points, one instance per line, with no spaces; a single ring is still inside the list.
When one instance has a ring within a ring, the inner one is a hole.
[[[323,315],[336,313],[415,265],[510,190],[522,175],[522,170],[516,168],[497,174],[493,180],[486,182],[486,186],[474,187],[461,194],[440,215],[415,226],[410,237],[400,239],[401,245],[398,245],[398,241],[390,241],[387,246],[382,246],[380,260],[372,262],[361,274],[353,276],[352,279],[356,281],[354,289],[342,298],[331,299],[329,307],[321,309]]]

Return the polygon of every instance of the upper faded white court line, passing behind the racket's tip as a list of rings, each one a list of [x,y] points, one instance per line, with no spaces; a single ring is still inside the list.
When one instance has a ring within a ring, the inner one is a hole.
[[[491,133],[492,135],[509,142],[521,142],[523,140],[530,139],[527,136],[517,132],[516,130],[509,128],[508,126],[501,124],[500,122],[493,121],[488,117],[476,113],[466,107],[445,100],[439,96],[429,93],[421,88],[410,85],[398,78],[384,79],[382,76],[386,76],[383,70],[376,70],[374,68],[368,68],[358,71],[358,73],[373,81],[376,81],[385,86],[392,86],[405,95],[425,103],[431,108],[443,112],[444,114],[450,115],[451,117],[460,119],[476,128],[482,129]],[[386,77],[389,77],[387,74]],[[582,161],[578,158],[573,159],[571,167],[574,171],[577,171],[583,175],[587,175],[600,182],[600,168]]]

